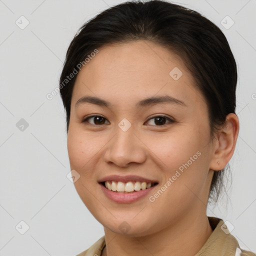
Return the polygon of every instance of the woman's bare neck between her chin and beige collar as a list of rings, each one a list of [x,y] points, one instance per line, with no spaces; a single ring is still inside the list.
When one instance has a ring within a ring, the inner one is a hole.
[[[194,256],[212,233],[206,214],[187,214],[181,220],[147,236],[125,236],[104,227],[106,246],[102,256]]]

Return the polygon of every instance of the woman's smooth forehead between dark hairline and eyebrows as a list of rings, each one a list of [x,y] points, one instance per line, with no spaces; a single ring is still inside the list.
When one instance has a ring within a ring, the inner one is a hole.
[[[182,101],[203,99],[182,59],[146,40],[98,48],[98,53],[77,74],[72,104],[84,94],[120,103],[155,94],[168,94]]]

